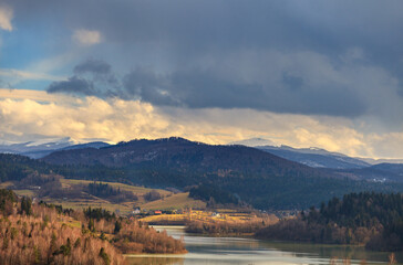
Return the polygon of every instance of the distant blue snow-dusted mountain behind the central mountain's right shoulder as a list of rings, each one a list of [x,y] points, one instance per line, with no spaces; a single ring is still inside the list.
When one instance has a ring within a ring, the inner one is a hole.
[[[355,169],[371,166],[360,159],[320,148],[292,148],[288,146],[258,146],[256,148],[312,168]]]

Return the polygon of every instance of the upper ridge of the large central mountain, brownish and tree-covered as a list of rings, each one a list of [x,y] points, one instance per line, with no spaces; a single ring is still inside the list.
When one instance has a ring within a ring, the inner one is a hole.
[[[248,156],[248,159],[245,157]],[[239,170],[264,170],[286,165],[290,168],[304,169],[316,174],[319,172],[300,163],[289,161],[261,150],[244,146],[211,146],[189,141],[179,137],[156,140],[131,140],[111,145],[104,148],[84,148],[59,150],[42,160],[54,165],[103,165],[106,167],[127,167],[153,162],[164,166],[183,168],[185,165],[198,168]],[[183,163],[183,165],[180,165]]]

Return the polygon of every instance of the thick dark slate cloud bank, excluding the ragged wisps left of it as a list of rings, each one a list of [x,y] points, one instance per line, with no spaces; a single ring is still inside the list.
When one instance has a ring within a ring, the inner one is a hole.
[[[363,102],[343,87],[304,89],[297,77],[289,83],[296,88],[236,83],[200,70],[176,72],[164,77],[137,71],[127,75],[125,88],[130,95],[155,105],[255,108],[335,116],[358,116],[365,110]]]

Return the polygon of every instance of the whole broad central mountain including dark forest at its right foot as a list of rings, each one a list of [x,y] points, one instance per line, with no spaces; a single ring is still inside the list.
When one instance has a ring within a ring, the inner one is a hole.
[[[302,209],[363,190],[403,191],[400,184],[353,181],[245,146],[211,146],[183,138],[132,140],[60,150],[42,161],[68,178],[130,181],[155,188],[204,184],[259,209]]]

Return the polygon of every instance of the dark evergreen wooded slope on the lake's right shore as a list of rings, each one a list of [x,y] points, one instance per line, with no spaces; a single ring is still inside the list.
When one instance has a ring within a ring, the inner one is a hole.
[[[281,220],[260,230],[259,239],[331,244],[365,244],[368,250],[403,250],[401,193],[350,193],[333,198],[320,209]]]

